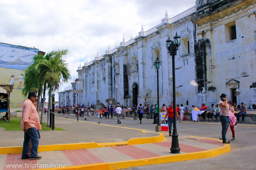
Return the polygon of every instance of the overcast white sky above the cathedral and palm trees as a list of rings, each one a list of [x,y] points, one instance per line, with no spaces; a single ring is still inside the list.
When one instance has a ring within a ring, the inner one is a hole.
[[[0,42],[49,52],[68,48],[63,59],[73,77],[82,66],[122,42],[195,6],[195,0],[0,0]],[[63,88],[64,86],[62,86]]]

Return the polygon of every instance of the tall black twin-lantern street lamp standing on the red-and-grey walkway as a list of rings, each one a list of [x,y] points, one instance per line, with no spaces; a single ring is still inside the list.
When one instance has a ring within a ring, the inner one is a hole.
[[[175,55],[177,55],[177,50],[180,46],[180,36],[176,35],[173,37],[173,41],[170,40],[170,36],[166,41],[166,48],[170,56],[172,55],[172,95],[173,95],[173,131],[172,131],[172,147],[170,148],[171,153],[180,153],[178,133],[176,129],[176,96],[175,96]]]

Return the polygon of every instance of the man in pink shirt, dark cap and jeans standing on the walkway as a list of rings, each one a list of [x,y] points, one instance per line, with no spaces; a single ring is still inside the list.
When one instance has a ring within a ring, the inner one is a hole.
[[[20,129],[23,130],[25,133],[21,159],[42,158],[41,156],[37,155],[37,149],[39,144],[39,136],[37,130],[41,129],[41,125],[38,113],[36,111],[36,107],[33,104],[36,101],[36,97],[38,97],[36,95],[36,92],[29,92],[28,99],[24,101],[22,106],[22,120],[20,123]],[[29,156],[28,150],[30,142],[32,142],[32,148],[31,154]]]

